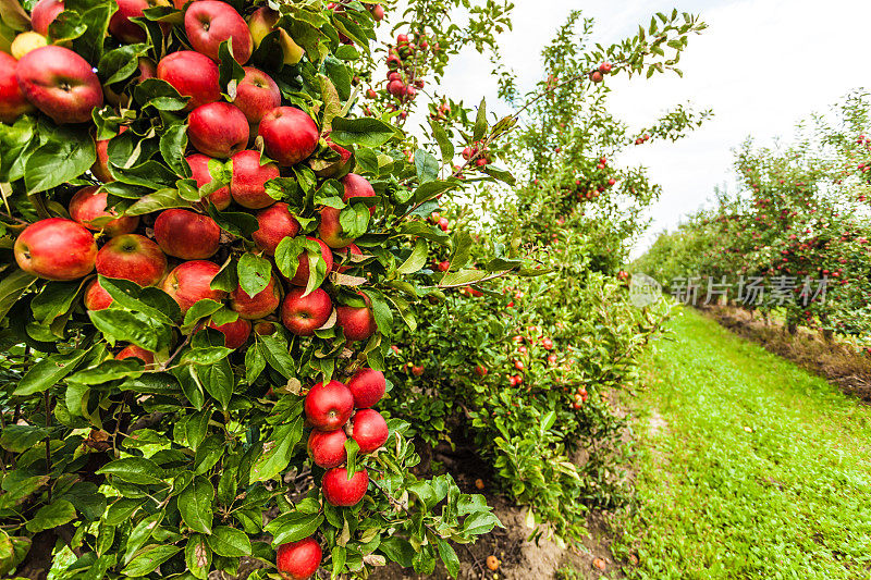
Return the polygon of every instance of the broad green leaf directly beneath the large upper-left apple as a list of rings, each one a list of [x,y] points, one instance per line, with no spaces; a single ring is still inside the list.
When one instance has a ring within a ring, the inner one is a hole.
[[[96,160],[97,150],[87,131],[59,128],[27,159],[24,169],[27,193],[45,192],[72,181]]]

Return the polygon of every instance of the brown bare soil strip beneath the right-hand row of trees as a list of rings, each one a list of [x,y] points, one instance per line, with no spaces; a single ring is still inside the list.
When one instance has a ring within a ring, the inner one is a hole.
[[[838,343],[837,338],[826,341],[807,329],[789,334],[783,324],[776,321],[765,323],[751,312],[735,307],[710,306],[700,310],[765,350],[823,377],[845,393],[871,402],[871,358]]]

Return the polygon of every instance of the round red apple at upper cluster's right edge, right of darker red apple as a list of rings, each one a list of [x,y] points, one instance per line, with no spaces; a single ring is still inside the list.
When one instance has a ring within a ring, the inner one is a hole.
[[[260,120],[258,134],[263,138],[267,155],[289,166],[305,160],[318,148],[318,126],[295,107],[277,107]]]

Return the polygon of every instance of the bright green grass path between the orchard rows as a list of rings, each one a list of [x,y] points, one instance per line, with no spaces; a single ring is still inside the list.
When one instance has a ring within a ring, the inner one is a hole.
[[[697,312],[645,362],[640,578],[871,578],[871,408]]]

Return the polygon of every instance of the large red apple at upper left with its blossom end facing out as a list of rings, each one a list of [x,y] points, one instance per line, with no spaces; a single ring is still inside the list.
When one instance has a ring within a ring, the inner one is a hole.
[[[69,48],[32,50],[19,61],[15,77],[27,100],[58,124],[90,121],[90,112],[102,104],[91,65]]]

